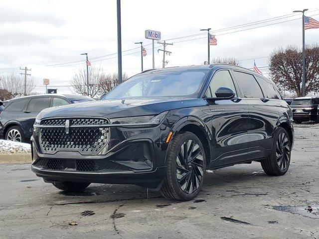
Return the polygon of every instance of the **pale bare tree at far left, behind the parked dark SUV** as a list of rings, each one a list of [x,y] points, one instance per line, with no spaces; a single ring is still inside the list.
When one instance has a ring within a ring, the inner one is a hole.
[[[34,78],[26,79],[26,95],[32,94],[35,88]],[[24,93],[24,79],[16,72],[0,76],[0,89],[7,90],[11,98],[21,97]]]

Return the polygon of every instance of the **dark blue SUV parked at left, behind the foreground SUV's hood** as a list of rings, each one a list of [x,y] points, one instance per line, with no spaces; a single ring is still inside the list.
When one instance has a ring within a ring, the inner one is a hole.
[[[35,95],[4,101],[0,110],[0,137],[6,140],[28,142],[35,117],[45,108],[73,103],[93,101],[87,96],[75,95]]]

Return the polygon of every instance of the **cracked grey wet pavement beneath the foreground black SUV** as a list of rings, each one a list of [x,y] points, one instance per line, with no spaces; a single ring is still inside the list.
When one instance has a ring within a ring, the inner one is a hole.
[[[318,124],[295,125],[286,175],[258,162],[209,170],[189,202],[134,185],[62,193],[30,164],[0,164],[0,238],[319,239],[318,135]]]

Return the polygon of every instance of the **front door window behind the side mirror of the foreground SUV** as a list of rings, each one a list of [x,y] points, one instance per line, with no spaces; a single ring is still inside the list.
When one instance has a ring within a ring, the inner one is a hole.
[[[208,90],[205,94],[205,97],[215,98],[216,97],[215,92],[220,87],[227,87],[227,88],[232,89],[235,92],[235,96],[236,96],[234,82],[231,79],[229,71],[227,71],[227,70],[218,71],[215,73],[215,75],[213,76],[213,79],[210,82],[210,85],[209,85]]]

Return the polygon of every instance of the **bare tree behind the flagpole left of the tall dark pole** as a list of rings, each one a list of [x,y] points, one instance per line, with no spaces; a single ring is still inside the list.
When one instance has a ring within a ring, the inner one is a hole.
[[[100,81],[105,73],[103,68],[89,67],[89,91],[90,97],[95,97],[100,92]],[[88,95],[86,86],[86,68],[79,69],[71,79],[73,90],[77,94]]]

